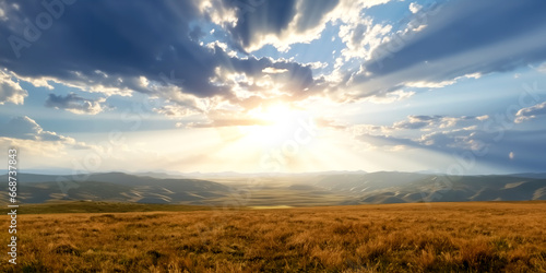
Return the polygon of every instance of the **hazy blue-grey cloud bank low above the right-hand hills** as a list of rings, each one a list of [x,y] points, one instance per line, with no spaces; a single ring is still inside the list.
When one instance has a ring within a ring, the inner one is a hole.
[[[417,124],[417,122],[446,118],[439,116],[413,117],[412,123],[417,128],[423,128],[423,124]],[[488,122],[498,122],[489,117],[449,118],[465,121],[455,127],[434,128],[428,131],[413,129],[385,131],[384,127],[372,124],[359,124],[348,129],[353,131],[356,140],[361,141],[369,149],[381,149],[381,151],[415,150],[417,153],[431,151],[448,156],[452,164],[460,165],[464,171],[472,171],[474,167],[482,164],[502,169],[537,170],[544,168],[542,158],[544,157],[543,152],[546,151],[543,141],[546,133],[544,130],[502,128],[499,131],[488,126]],[[510,154],[518,154],[518,156],[507,157]],[[449,166],[452,165],[442,168]]]

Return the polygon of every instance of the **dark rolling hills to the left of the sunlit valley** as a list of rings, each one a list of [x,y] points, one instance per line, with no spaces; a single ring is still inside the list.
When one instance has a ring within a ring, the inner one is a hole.
[[[83,179],[85,178],[85,179]],[[0,179],[5,180],[5,176]],[[19,199],[24,203],[90,200],[136,203],[192,203],[229,192],[222,183],[199,179],[158,179],[123,173],[85,177],[20,174]]]

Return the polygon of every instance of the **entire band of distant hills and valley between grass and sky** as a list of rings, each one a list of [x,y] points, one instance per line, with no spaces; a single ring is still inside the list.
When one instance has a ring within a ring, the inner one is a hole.
[[[87,200],[250,206],[546,200],[544,174],[450,177],[396,171],[264,177],[216,175],[218,177],[191,179],[161,173],[102,173],[79,177],[20,174],[19,197],[24,203]],[[0,179],[5,181],[7,176]]]

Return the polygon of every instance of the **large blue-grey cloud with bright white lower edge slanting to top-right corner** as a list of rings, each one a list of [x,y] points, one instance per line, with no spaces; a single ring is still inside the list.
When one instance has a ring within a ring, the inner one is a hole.
[[[462,0],[424,7],[392,32],[340,90],[354,98],[392,86],[443,87],[462,78],[512,71],[546,60],[544,1]],[[425,28],[410,31],[418,25]],[[391,90],[392,91],[392,90]]]

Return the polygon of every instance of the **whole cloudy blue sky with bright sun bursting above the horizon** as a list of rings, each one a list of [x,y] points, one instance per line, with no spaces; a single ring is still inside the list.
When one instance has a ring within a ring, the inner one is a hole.
[[[546,171],[546,1],[0,2],[0,147],[57,171]]]

